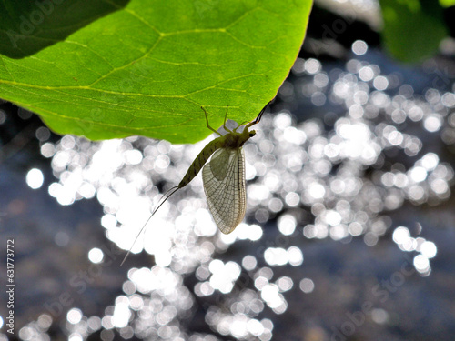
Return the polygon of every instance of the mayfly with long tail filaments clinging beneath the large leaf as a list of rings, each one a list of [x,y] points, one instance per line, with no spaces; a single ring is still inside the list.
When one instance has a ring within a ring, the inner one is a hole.
[[[242,123],[237,128],[229,130],[226,126],[227,108],[225,121],[223,124],[224,129],[227,131],[226,135],[221,135],[208,125],[207,111],[201,106],[201,109],[206,115],[207,128],[212,130],[215,134],[219,135],[215,140],[211,141],[202,149],[197,155],[196,159],[189,166],[187,174],[183,177],[182,181],[177,186],[170,188],[161,199],[161,203],[155,208],[151,216],[147,219],[146,224],[141,228],[137,238],[141,235],[144,228],[147,226],[148,221],[155,215],[158,208],[161,207],[167,199],[189,184],[191,180],[202,169],[202,182],[204,191],[207,196],[208,208],[217,224],[219,230],[224,234],[229,234],[240,224],[245,216],[247,208],[247,195],[245,193],[245,154],[242,146],[251,137],[256,135],[255,130],[248,130],[252,125],[259,123],[262,115],[264,114],[268,105],[260,111],[258,117],[252,122]],[[243,131],[238,133],[238,128],[245,125]],[[207,162],[208,158],[210,161]],[[207,163],[207,165],[206,165]],[[133,248],[131,246],[131,248]],[[131,252],[131,249],[126,254],[122,261],[122,266],[126,257]]]

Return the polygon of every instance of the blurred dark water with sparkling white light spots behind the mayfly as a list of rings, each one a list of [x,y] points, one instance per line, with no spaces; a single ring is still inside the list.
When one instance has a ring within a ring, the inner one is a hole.
[[[455,43],[410,67],[380,50],[374,30],[344,45],[313,32],[310,21],[244,147],[244,223],[220,234],[197,176],[122,267],[161,194],[213,136],[89,142],[1,105],[13,339],[453,339]],[[0,340],[5,316],[0,306]]]

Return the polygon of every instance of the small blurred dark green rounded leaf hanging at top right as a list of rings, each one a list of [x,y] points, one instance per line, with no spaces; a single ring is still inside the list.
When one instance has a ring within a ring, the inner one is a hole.
[[[380,0],[382,38],[390,54],[406,63],[434,55],[448,35],[442,8],[431,0]]]

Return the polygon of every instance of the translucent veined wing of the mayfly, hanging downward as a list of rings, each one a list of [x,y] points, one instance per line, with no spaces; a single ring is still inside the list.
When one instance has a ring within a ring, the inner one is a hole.
[[[208,208],[219,230],[228,234],[245,216],[245,155],[241,147],[220,148],[202,169]]]

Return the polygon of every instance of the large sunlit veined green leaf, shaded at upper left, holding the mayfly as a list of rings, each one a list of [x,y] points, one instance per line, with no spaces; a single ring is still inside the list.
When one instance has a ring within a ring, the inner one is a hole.
[[[16,5],[20,4],[20,5]],[[201,140],[252,120],[288,75],[309,0],[0,3],[0,97],[58,134]]]

